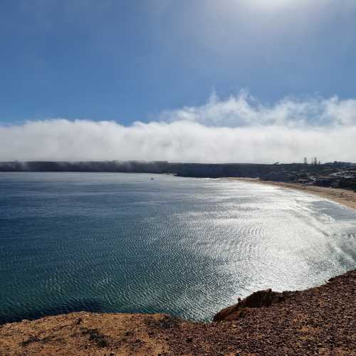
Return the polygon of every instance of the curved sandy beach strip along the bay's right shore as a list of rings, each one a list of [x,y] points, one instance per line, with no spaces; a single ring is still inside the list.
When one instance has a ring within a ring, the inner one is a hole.
[[[267,184],[276,187],[282,187],[287,189],[295,189],[308,194],[316,195],[325,199],[335,201],[338,204],[347,206],[350,209],[356,210],[356,192],[347,189],[330,188],[330,187],[318,187],[315,185],[303,185],[299,183],[286,183],[286,182],[274,182],[264,181],[258,178],[227,178],[229,181],[240,181],[256,184]]]

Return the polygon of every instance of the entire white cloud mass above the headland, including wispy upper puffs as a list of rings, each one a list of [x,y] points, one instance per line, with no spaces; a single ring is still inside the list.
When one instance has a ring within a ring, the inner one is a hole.
[[[283,98],[263,105],[246,92],[166,110],[151,122],[28,120],[0,124],[0,160],[356,162],[356,99]]]

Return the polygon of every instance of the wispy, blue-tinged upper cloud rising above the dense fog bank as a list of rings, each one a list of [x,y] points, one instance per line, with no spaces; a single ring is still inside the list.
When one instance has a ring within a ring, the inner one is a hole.
[[[242,91],[236,97],[220,100],[213,93],[205,105],[184,107],[162,113],[163,120],[191,120],[204,125],[253,126],[283,125],[288,127],[356,125],[356,100],[284,98],[266,106]]]

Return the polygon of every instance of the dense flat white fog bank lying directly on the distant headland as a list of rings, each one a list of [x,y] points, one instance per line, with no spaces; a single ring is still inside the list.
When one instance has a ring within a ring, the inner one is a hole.
[[[356,126],[209,127],[196,122],[46,120],[0,128],[0,161],[167,160],[170,162],[356,161]]]

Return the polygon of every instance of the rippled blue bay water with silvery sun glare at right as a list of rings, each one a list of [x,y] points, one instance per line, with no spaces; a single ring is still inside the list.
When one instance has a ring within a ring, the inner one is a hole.
[[[0,244],[0,323],[74,310],[207,320],[254,290],[355,268],[356,212],[226,179],[1,173]]]

